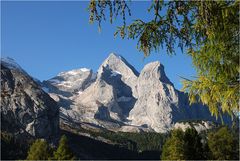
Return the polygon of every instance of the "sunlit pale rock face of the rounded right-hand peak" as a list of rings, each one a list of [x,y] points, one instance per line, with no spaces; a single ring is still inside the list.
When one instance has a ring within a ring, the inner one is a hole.
[[[166,77],[159,62],[147,64],[137,81],[138,99],[130,111],[129,120],[158,132],[171,128],[173,111],[178,107],[178,93]]]

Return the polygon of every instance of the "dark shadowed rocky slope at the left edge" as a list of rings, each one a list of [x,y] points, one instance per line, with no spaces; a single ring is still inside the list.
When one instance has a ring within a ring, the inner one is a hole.
[[[2,130],[51,139],[59,133],[57,103],[22,69],[1,61]]]

